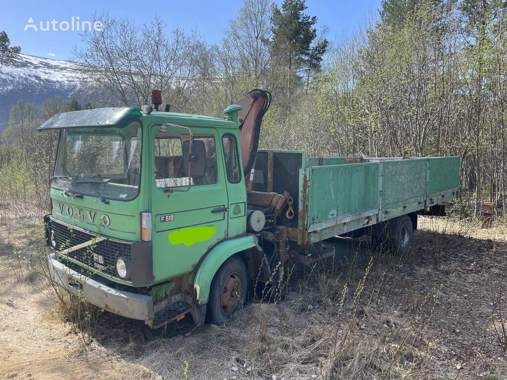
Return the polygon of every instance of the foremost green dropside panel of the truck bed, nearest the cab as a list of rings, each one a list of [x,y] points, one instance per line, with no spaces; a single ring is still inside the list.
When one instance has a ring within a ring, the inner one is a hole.
[[[343,217],[378,211],[378,163],[310,168],[307,225],[321,227]]]

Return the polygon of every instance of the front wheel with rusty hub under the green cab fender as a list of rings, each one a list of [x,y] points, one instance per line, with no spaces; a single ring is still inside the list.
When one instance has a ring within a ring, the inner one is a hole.
[[[211,281],[208,302],[210,322],[220,326],[242,309],[247,289],[245,263],[238,256],[232,256],[222,264]]]

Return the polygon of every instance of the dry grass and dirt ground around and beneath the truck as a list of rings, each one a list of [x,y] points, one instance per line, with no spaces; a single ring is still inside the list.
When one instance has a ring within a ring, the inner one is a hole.
[[[2,379],[507,378],[504,226],[419,217],[404,257],[332,239],[334,258],[294,268],[285,301],[251,300],[226,326],[105,312],[76,330],[25,265],[31,220],[0,226]]]

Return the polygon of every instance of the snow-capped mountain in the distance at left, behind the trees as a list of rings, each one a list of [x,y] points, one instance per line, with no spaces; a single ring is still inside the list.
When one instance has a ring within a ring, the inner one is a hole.
[[[79,64],[20,54],[14,64],[0,69],[0,130],[7,128],[11,107],[19,99],[37,107],[52,97],[82,100],[81,75]]]

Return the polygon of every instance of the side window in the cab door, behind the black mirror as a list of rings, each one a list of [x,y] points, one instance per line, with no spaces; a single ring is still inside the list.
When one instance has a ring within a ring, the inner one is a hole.
[[[188,172],[183,165],[183,141],[187,134],[175,135],[160,132],[155,135],[155,182],[157,187],[188,186]],[[216,183],[216,151],[213,136],[194,136],[201,140],[206,148],[206,170],[203,176],[192,176],[192,185]]]

